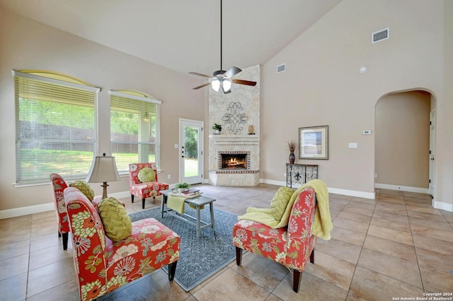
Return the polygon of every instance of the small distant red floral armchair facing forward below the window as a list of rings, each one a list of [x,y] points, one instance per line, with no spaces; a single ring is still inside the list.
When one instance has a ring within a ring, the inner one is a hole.
[[[142,182],[139,180],[139,172],[145,167],[154,170],[154,181]],[[132,203],[134,203],[134,196],[142,199],[142,209],[144,209],[144,200],[156,196],[160,196],[163,190],[168,189],[168,184],[159,182],[157,179],[156,163],[133,163],[129,165],[129,190]]]

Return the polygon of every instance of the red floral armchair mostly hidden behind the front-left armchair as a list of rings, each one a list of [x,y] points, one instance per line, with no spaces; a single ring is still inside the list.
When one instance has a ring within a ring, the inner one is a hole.
[[[67,182],[56,174],[50,174],[50,184],[54,191],[55,211],[57,212],[58,221],[58,237],[63,237],[63,249],[68,248],[69,221],[66,211],[66,203],[64,203],[63,191],[68,187]]]

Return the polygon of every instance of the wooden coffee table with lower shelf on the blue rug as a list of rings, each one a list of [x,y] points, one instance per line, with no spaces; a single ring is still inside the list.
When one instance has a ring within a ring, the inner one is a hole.
[[[195,210],[197,211],[196,217],[194,218],[193,216],[189,216],[186,213],[180,214],[176,211],[173,211],[171,208],[166,207],[167,203],[167,198],[168,194],[171,192],[175,192],[172,189],[164,190],[161,191],[162,197],[161,197],[161,213],[162,213],[162,218],[164,218],[164,213],[171,214],[175,218],[179,218],[180,220],[185,221],[185,223],[189,223],[190,225],[195,226],[197,230],[197,237],[200,237],[201,235],[201,230],[207,228],[207,227],[212,227],[215,233],[215,228],[214,228],[214,206],[213,202],[215,199],[212,199],[207,196],[197,196],[196,198],[188,198],[184,200],[184,205],[186,203],[192,205],[195,207]],[[202,206],[209,205],[210,206],[210,213],[211,213],[211,222],[207,223],[200,218],[200,211],[202,210]]]

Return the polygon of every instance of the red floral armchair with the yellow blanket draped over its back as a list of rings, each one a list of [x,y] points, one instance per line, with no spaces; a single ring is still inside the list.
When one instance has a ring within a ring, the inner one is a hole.
[[[311,228],[314,223],[315,201],[313,188],[302,189],[292,206],[288,225],[284,228],[274,229],[251,220],[239,220],[233,227],[236,264],[241,265],[244,249],[292,268],[293,290],[297,293],[306,261],[310,259],[314,264],[317,237],[311,233]]]

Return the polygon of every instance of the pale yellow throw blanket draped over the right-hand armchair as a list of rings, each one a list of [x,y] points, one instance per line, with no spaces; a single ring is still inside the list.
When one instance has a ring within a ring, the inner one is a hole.
[[[292,205],[299,196],[300,191],[306,187],[311,187],[316,193],[316,211],[314,216],[314,223],[311,232],[316,237],[323,240],[331,239],[331,230],[333,229],[331,211],[328,206],[328,190],[326,184],[320,179],[312,179],[310,182],[302,185],[292,195],[289,203],[283,213],[280,221],[273,218],[270,208],[247,208],[247,213],[239,216],[238,220],[253,220],[257,223],[262,223],[270,228],[282,228],[288,225],[289,214],[291,213]]]

